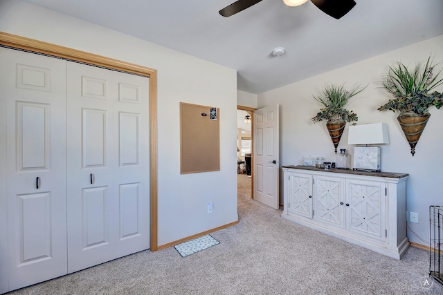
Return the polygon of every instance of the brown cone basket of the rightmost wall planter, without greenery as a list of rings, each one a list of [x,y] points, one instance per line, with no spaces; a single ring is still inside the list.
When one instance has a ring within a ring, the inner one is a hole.
[[[412,153],[413,156],[415,154],[415,146],[430,117],[430,114],[417,115],[415,113],[404,113],[397,117],[401,130],[403,130],[404,135],[406,135],[406,140],[409,142],[410,153]]]

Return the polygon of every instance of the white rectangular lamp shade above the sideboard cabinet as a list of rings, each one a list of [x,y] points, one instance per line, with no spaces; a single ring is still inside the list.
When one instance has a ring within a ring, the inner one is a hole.
[[[388,125],[374,123],[349,127],[347,144],[388,144]]]

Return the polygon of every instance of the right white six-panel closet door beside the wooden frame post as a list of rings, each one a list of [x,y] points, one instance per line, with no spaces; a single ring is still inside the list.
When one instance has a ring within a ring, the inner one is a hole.
[[[68,272],[149,247],[149,82],[67,63]]]

